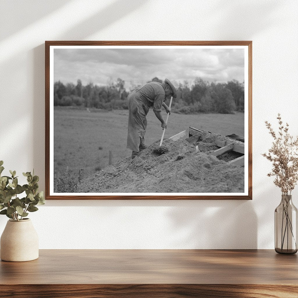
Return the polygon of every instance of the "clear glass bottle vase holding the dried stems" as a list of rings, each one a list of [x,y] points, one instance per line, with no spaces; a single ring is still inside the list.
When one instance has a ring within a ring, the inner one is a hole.
[[[297,208],[291,195],[282,195],[274,211],[275,251],[279,254],[297,252]]]

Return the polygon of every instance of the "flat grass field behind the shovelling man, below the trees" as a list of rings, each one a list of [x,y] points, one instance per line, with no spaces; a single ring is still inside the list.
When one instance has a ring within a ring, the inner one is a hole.
[[[166,114],[163,114],[166,119]],[[147,115],[146,143],[160,139],[162,128],[152,110]],[[72,173],[84,169],[89,176],[108,165],[109,150],[113,162],[131,154],[126,149],[128,110],[96,110],[72,107],[54,108],[54,171]],[[213,133],[244,135],[244,114],[171,114],[165,137],[173,136],[192,125]]]

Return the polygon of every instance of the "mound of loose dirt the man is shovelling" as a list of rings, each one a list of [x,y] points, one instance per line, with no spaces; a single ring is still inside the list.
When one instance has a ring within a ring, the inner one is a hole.
[[[78,187],[80,193],[242,193],[244,167],[227,164],[208,153],[218,149],[215,140],[229,138],[212,134],[201,142],[164,139],[143,150],[139,157],[127,157],[87,177]],[[235,140],[232,140],[235,143]],[[237,141],[236,141],[237,142]],[[198,151],[195,146],[198,145]],[[243,143],[242,143],[243,145]],[[228,160],[232,157],[226,153]],[[235,157],[233,157],[235,158]]]

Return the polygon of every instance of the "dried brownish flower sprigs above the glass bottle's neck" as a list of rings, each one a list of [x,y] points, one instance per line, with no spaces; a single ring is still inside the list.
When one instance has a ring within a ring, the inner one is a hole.
[[[283,195],[290,195],[298,181],[298,136],[288,134],[288,123],[283,125],[280,114],[277,116],[279,129],[276,133],[269,122],[265,122],[274,139],[268,153],[262,155],[272,162],[273,168],[267,175],[274,176],[274,184],[281,188]]]

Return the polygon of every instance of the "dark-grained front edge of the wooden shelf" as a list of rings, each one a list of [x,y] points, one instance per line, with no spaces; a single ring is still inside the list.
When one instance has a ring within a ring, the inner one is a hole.
[[[1,298],[297,298],[294,285],[0,285]]]

